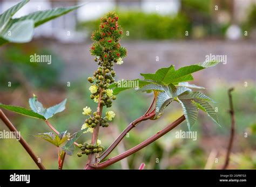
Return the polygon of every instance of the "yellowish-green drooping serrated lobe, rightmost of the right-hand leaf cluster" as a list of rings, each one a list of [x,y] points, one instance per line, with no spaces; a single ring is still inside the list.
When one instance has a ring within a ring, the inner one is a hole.
[[[213,107],[204,99],[199,99],[199,98],[195,98],[193,99],[194,102],[196,102],[197,106],[199,107],[199,109],[203,110],[204,112],[206,112],[208,114],[208,116],[218,125],[219,124],[219,120],[217,117],[217,114],[215,112],[215,110],[213,109]]]

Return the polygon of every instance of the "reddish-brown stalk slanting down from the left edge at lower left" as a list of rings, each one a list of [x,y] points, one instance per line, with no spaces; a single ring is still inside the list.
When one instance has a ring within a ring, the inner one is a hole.
[[[4,124],[9,128],[10,131],[12,132],[16,132],[18,133],[17,129],[15,128],[15,126],[11,123],[11,121],[5,116],[4,112],[0,109],[0,118],[2,119],[2,121],[4,122]],[[21,135],[20,135],[21,136]],[[30,146],[28,145],[28,143],[23,139],[23,137],[21,136],[21,139],[19,140],[19,142],[21,143],[21,145],[24,147],[24,149],[26,150],[26,152],[31,156],[31,158],[33,159],[33,161],[37,164],[39,169],[45,169],[45,167],[43,166],[42,163],[38,162],[38,157],[36,156],[36,154],[33,152],[33,150],[30,148]]]

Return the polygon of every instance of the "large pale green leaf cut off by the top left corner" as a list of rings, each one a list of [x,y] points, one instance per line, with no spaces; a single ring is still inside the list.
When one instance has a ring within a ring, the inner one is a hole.
[[[7,42],[29,42],[32,39],[34,27],[80,7],[70,6],[66,8],[37,11],[21,18],[12,19],[12,16],[27,2],[29,1],[22,1],[0,15],[0,45],[6,44]]]

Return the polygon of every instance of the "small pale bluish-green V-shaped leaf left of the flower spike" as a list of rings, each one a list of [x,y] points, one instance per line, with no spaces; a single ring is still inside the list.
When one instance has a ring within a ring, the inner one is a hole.
[[[62,112],[63,110],[65,110],[65,104],[66,104],[66,99],[64,99],[62,102],[60,102],[55,106],[51,106],[48,109],[45,109],[43,107],[43,104],[37,100],[37,97],[35,95],[29,99],[29,105],[32,111],[38,114],[41,114],[42,116],[45,117],[45,119],[49,119],[56,113]]]

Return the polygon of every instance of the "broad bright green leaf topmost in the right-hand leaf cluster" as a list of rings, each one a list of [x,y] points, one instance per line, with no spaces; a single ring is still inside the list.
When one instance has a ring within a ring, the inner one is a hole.
[[[171,65],[167,68],[161,68],[156,71],[154,74],[140,74],[145,80],[153,80],[158,82],[159,84],[169,85],[170,83],[179,83],[179,82],[187,82],[192,81],[193,76],[192,73],[205,69],[207,67],[213,67],[219,62],[210,61],[210,62],[202,62],[198,64],[194,64],[191,66],[185,66],[178,70],[174,69],[174,66]]]

